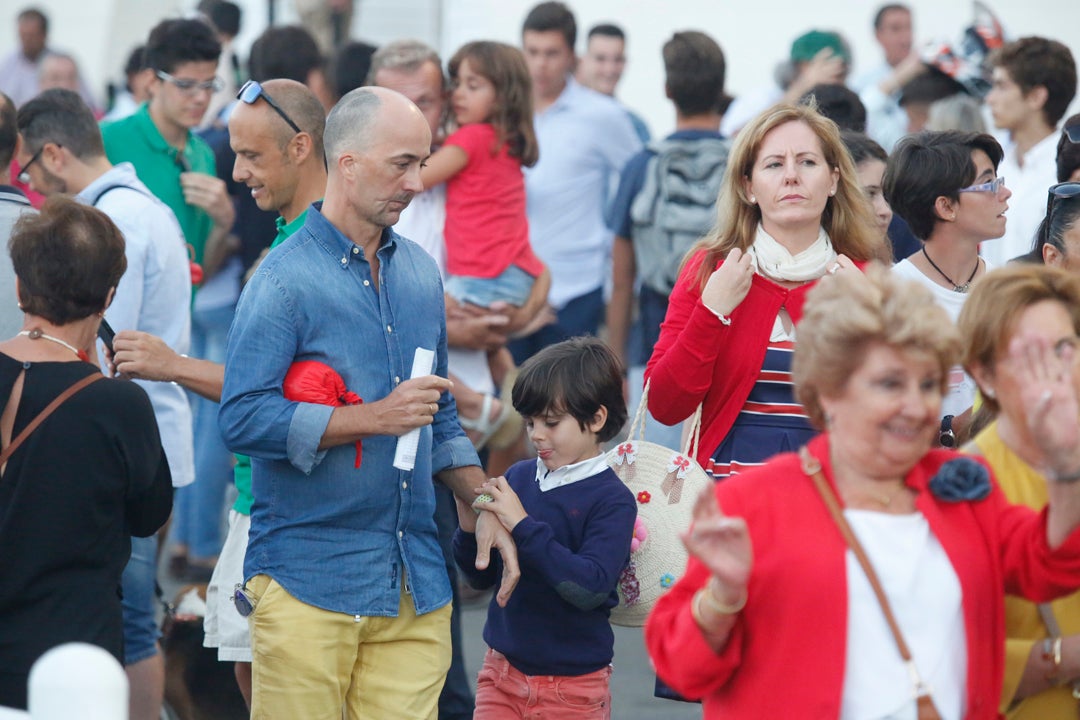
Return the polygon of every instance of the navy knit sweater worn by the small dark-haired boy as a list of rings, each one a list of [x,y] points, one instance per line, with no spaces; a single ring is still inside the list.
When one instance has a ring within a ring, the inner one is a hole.
[[[633,493],[610,470],[541,492],[534,460],[507,471],[507,481],[528,513],[513,532],[522,578],[505,608],[491,598],[484,640],[525,675],[606,667],[615,644],[608,619],[637,516]],[[474,534],[458,530],[454,555],[473,587],[500,581],[498,553],[476,570]]]

